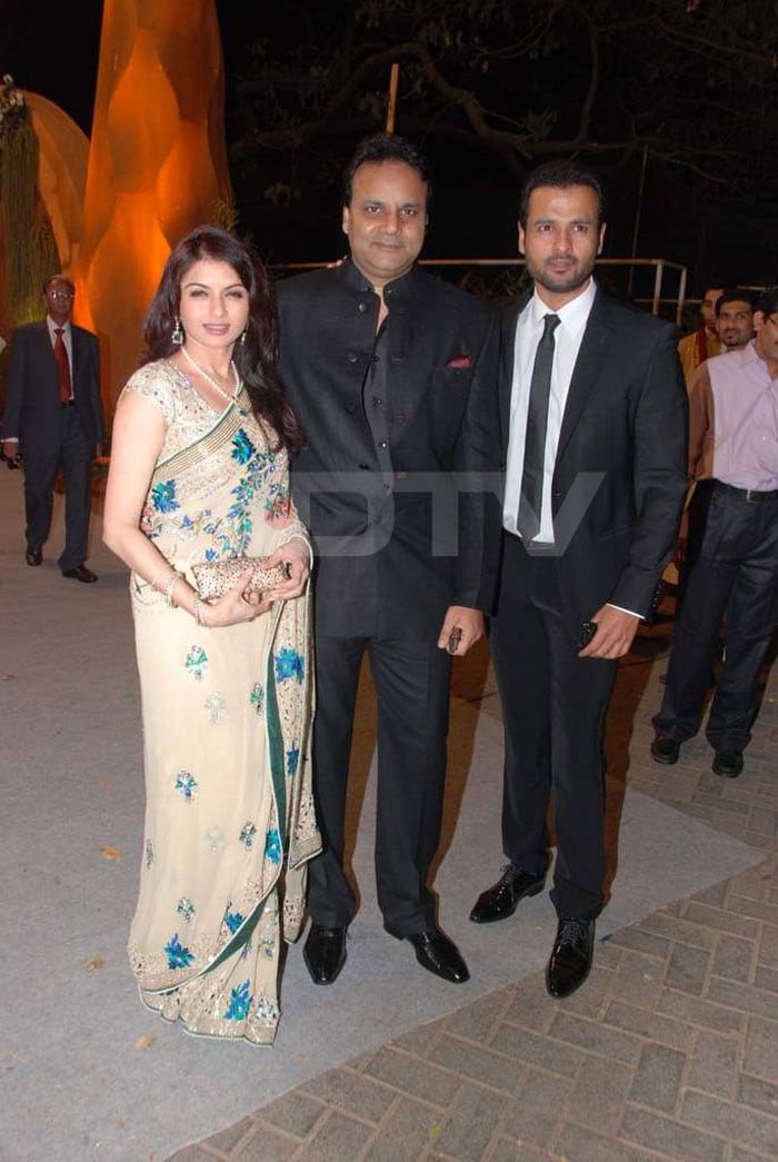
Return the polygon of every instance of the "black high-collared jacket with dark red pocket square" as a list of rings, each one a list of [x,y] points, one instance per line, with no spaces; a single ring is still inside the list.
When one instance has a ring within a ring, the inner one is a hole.
[[[484,492],[499,469],[497,315],[419,267],[390,284],[376,404],[363,383],[379,300],[359,271],[347,261],[303,274],[278,296],[281,375],[308,439],[293,486],[317,543],[317,632],[428,639],[449,604],[489,607],[499,553],[497,497]],[[376,406],[386,451],[370,426]]]

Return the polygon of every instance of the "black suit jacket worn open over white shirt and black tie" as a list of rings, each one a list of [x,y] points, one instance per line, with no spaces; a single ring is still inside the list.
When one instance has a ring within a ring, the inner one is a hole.
[[[516,324],[528,297],[503,321],[505,453]],[[598,290],[570,381],[552,494],[560,586],[576,625],[606,602],[649,611],[676,544],[686,449],[675,327]]]

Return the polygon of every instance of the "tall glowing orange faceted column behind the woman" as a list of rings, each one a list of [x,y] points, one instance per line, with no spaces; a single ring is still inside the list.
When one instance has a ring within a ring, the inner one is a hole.
[[[231,202],[214,0],[106,0],[75,321],[99,333],[113,411],[171,249]]]

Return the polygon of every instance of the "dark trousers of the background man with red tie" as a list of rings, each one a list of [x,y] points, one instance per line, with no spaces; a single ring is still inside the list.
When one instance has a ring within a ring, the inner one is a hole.
[[[89,495],[92,485],[92,449],[78,419],[75,408],[60,413],[59,446],[46,452],[35,444],[23,445],[24,509],[27,544],[43,548],[51,531],[55,483],[62,468],[65,478],[65,548],[59,558],[62,569],[82,565],[87,557]]]

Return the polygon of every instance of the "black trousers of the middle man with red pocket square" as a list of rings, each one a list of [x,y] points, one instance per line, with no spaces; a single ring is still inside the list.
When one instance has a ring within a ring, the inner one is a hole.
[[[308,908],[314,923],[327,927],[343,927],[354,914],[343,856],[354,705],[366,651],[379,716],[379,906],[384,921],[408,935],[435,923],[426,880],[440,840],[451,659],[434,641],[317,637],[314,770],[324,851],[308,865]]]

